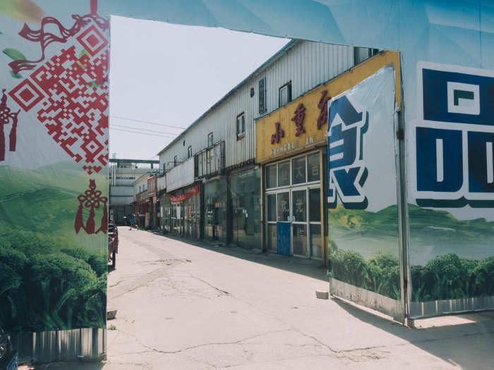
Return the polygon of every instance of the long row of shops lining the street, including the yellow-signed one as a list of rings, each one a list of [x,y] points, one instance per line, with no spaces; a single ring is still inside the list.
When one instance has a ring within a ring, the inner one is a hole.
[[[258,111],[261,99],[269,101],[267,97],[246,100],[254,105],[252,108],[238,107],[235,98],[242,89],[254,85],[260,88],[257,94],[267,94],[262,89],[269,81],[270,70],[277,68],[283,57],[293,56],[281,55],[274,65],[261,66],[159,153],[162,174],[150,176],[147,193],[140,192],[141,196],[136,197],[141,225],[193,240],[326,263],[327,102],[384,66],[391,64],[399,73],[399,56],[383,51],[342,73],[334,73],[328,80],[316,81],[315,87],[300,91],[298,97],[282,106],[269,110],[267,104],[265,113]],[[291,85],[296,82],[292,79]],[[232,109],[234,100],[237,107]],[[224,123],[236,125],[235,135],[229,135],[228,129],[208,126],[208,118],[223,111],[241,111],[251,125],[243,123],[241,136],[235,119],[238,115]],[[210,131],[203,149],[193,154],[188,144]],[[247,147],[253,148],[250,159],[232,161],[240,157],[239,150],[246,152]],[[181,152],[186,158],[177,158]]]

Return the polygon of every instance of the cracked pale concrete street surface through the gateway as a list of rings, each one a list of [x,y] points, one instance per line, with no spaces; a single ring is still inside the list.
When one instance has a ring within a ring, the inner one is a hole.
[[[494,314],[410,329],[327,290],[320,262],[119,228],[107,361],[63,369],[493,369]],[[56,368],[55,364],[49,369]]]

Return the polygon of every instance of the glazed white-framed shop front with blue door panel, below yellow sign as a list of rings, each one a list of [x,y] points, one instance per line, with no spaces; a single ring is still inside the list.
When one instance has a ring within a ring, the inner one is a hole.
[[[279,254],[323,256],[323,151],[265,166],[267,249]]]

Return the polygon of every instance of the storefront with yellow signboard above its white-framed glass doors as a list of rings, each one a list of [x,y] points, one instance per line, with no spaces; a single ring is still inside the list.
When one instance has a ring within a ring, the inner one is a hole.
[[[383,51],[256,121],[263,249],[327,263],[327,104],[390,63],[398,54]]]

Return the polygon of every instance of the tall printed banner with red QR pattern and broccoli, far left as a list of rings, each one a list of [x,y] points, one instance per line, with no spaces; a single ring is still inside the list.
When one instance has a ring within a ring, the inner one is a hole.
[[[0,327],[104,327],[109,19],[0,3]]]

